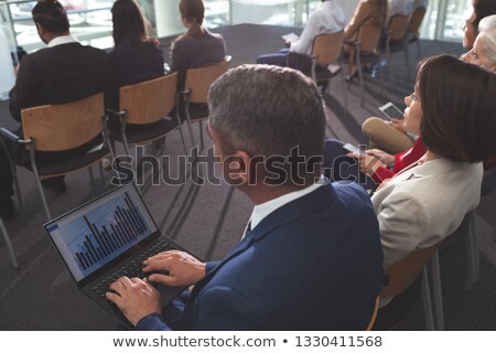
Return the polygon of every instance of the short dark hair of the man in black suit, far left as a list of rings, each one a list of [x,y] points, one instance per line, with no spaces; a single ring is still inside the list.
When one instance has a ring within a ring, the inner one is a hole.
[[[51,33],[65,33],[69,30],[67,13],[56,0],[39,1],[31,13],[34,23],[39,23]]]

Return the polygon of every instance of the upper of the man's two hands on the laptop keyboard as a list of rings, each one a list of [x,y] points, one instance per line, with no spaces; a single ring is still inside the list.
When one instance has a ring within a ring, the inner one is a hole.
[[[187,253],[177,250],[160,253],[150,257],[143,265],[143,272],[168,271],[168,275],[150,275],[149,280],[172,287],[191,286],[205,277],[205,264]]]

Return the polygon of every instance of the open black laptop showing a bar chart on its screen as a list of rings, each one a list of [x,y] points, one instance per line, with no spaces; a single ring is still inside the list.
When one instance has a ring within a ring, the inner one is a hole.
[[[150,256],[173,249],[186,252],[160,233],[132,183],[118,186],[43,226],[79,290],[129,329],[131,323],[105,297],[110,284],[122,276],[147,277],[149,274],[143,274],[142,268]],[[184,290],[163,285],[157,289],[163,306]]]

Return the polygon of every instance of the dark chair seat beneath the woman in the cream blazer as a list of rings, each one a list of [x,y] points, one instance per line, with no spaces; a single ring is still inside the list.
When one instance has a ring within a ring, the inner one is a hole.
[[[403,292],[396,296],[389,304],[379,308],[374,323],[374,331],[387,331],[399,324],[410,312],[420,298],[422,288],[422,272]]]

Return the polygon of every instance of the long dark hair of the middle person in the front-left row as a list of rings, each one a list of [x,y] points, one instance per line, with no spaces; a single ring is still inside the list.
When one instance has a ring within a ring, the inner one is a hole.
[[[127,40],[140,45],[147,38],[140,8],[132,0],[117,0],[111,9],[114,23],[114,43],[119,45]]]

